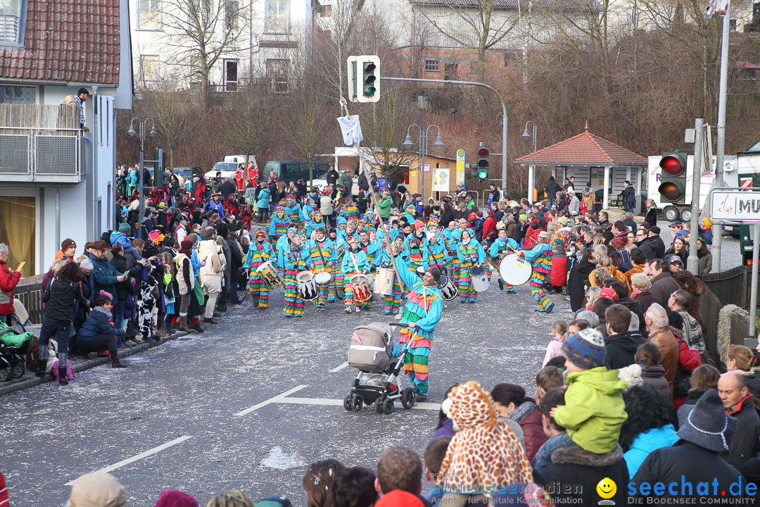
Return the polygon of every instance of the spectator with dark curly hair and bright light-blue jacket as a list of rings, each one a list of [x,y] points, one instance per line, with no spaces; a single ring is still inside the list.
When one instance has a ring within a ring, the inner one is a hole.
[[[620,447],[629,477],[633,477],[651,452],[678,442],[678,417],[669,401],[646,387],[629,388],[622,399],[628,419],[620,428]]]

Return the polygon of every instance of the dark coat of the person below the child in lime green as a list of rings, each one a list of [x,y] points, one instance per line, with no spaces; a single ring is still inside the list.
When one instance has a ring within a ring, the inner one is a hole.
[[[587,452],[575,446],[559,448],[552,453],[552,462],[537,468],[536,473],[538,483],[553,486],[552,499],[556,505],[597,505],[597,484],[605,477],[617,486],[610,500],[615,505],[627,505],[628,467],[619,445],[606,454]]]

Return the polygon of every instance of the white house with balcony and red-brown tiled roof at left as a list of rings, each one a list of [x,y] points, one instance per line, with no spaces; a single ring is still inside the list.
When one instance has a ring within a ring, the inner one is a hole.
[[[65,103],[80,88],[80,107]],[[23,275],[116,220],[116,111],[131,109],[128,0],[0,5],[0,242]]]

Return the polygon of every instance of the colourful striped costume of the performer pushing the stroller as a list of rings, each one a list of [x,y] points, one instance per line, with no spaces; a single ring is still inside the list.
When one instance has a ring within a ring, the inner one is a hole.
[[[425,287],[423,280],[408,269],[407,259],[399,255],[396,258],[398,273],[409,289],[407,304],[401,312],[401,324],[416,323],[416,328],[402,328],[399,344],[404,348],[404,373],[409,375],[409,382],[414,391],[428,395],[429,357],[432,347],[433,331],[441,320],[443,296],[438,287]],[[404,268],[407,269],[404,269]]]

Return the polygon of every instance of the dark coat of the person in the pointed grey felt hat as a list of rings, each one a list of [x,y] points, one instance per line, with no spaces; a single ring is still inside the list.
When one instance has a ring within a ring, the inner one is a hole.
[[[718,483],[718,491],[729,491],[731,483],[738,483],[739,481],[744,483],[739,471],[736,471],[736,468],[720,459],[717,452],[709,451],[691,442],[682,441],[679,445],[663,447],[652,451],[644,460],[644,463],[638,467],[636,475],[632,478],[632,483],[635,483],[637,486],[644,482],[652,485],[654,483],[676,483],[680,485],[682,481],[692,483],[692,494],[688,496],[694,498],[698,496],[696,484],[708,483],[712,485],[715,480]],[[636,491],[640,491],[638,487]],[[710,491],[712,492],[712,486]],[[718,494],[720,495],[720,493]],[[651,498],[651,496],[643,496],[641,494],[638,496],[644,499]],[[658,498],[682,499],[683,496],[681,495],[680,487],[675,495],[665,488],[663,495],[658,496]]]

